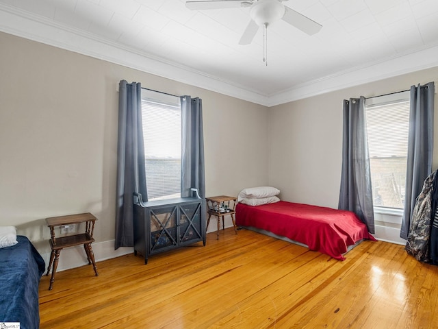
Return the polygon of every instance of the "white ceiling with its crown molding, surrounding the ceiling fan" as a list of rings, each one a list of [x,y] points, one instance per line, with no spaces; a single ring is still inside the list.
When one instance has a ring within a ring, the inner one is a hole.
[[[284,21],[238,45],[248,8],[184,0],[0,0],[0,31],[266,106],[438,65],[438,0],[289,0],[323,27]],[[166,90],[164,90],[166,91]]]

